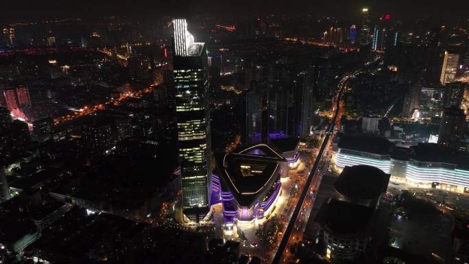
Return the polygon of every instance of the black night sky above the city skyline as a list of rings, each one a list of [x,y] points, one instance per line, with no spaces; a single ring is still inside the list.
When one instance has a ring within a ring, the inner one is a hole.
[[[0,21],[22,21],[64,16],[155,16],[191,14],[310,13],[356,17],[361,6],[406,19],[429,15],[466,15],[468,0],[1,0]]]

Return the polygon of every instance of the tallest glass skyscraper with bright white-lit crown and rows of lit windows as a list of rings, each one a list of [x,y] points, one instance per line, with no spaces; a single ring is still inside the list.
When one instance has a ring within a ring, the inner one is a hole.
[[[211,178],[208,65],[205,43],[195,43],[185,19],[174,19],[173,73],[184,214],[208,213]]]

